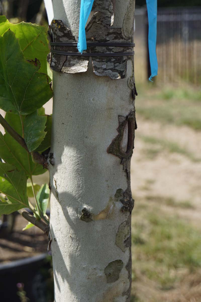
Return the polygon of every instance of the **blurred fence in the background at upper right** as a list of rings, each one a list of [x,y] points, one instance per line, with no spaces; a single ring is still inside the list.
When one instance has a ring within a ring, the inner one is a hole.
[[[158,9],[156,51],[157,81],[200,85],[201,7]]]

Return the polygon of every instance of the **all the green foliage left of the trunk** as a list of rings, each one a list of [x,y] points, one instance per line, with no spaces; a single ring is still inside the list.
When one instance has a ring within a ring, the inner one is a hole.
[[[52,97],[49,85],[47,54],[49,53],[46,28],[36,24],[11,24],[0,16],[0,108],[5,110],[7,123],[24,138],[29,152],[11,132],[0,132],[0,215],[21,208],[30,208],[36,219],[46,216],[49,201],[48,185],[33,183],[32,176],[46,172],[33,162],[33,152],[50,147],[52,117],[42,107]],[[27,179],[31,183],[27,183]],[[35,207],[28,197],[35,198]],[[28,223],[24,229],[33,226]]]

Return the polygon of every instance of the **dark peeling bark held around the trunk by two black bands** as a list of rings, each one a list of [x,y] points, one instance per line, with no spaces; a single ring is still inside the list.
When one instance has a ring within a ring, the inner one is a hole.
[[[86,26],[87,42],[132,42],[133,32],[125,37],[123,28],[111,28],[114,21],[114,12],[111,0],[95,0],[92,11],[94,15]],[[131,18],[133,20],[133,18]],[[53,20],[51,24],[53,42],[77,42],[77,38],[71,34],[61,20]],[[78,52],[76,46],[53,46],[54,50],[65,52]],[[122,53],[132,52],[132,47],[88,47],[88,53]],[[111,79],[124,79],[127,76],[127,60],[130,57],[92,57],[93,71],[96,76],[109,76]],[[57,72],[77,73],[86,72],[89,57],[65,56],[51,54],[48,57],[50,67]]]

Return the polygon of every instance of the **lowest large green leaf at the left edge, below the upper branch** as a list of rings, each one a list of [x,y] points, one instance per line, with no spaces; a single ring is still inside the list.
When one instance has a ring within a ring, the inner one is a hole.
[[[27,207],[27,178],[24,171],[17,171],[13,165],[0,162],[0,192],[8,198],[7,201],[0,200],[0,215]]]

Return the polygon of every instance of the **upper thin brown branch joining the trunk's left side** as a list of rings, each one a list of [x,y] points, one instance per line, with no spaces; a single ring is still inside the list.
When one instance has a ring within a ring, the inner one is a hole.
[[[25,140],[23,137],[21,137],[9,124],[8,122],[2,117],[2,115],[0,114],[0,124],[4,127],[4,129],[10,134],[10,136],[12,138],[14,138],[14,140],[17,141],[17,143],[20,144],[20,146],[22,146],[28,153],[29,149],[27,148],[27,144],[25,143]],[[48,168],[48,163],[46,161],[45,156],[43,156],[42,154],[38,153],[38,152],[33,152],[33,159],[35,162],[37,162],[38,164],[41,164],[44,168]]]

